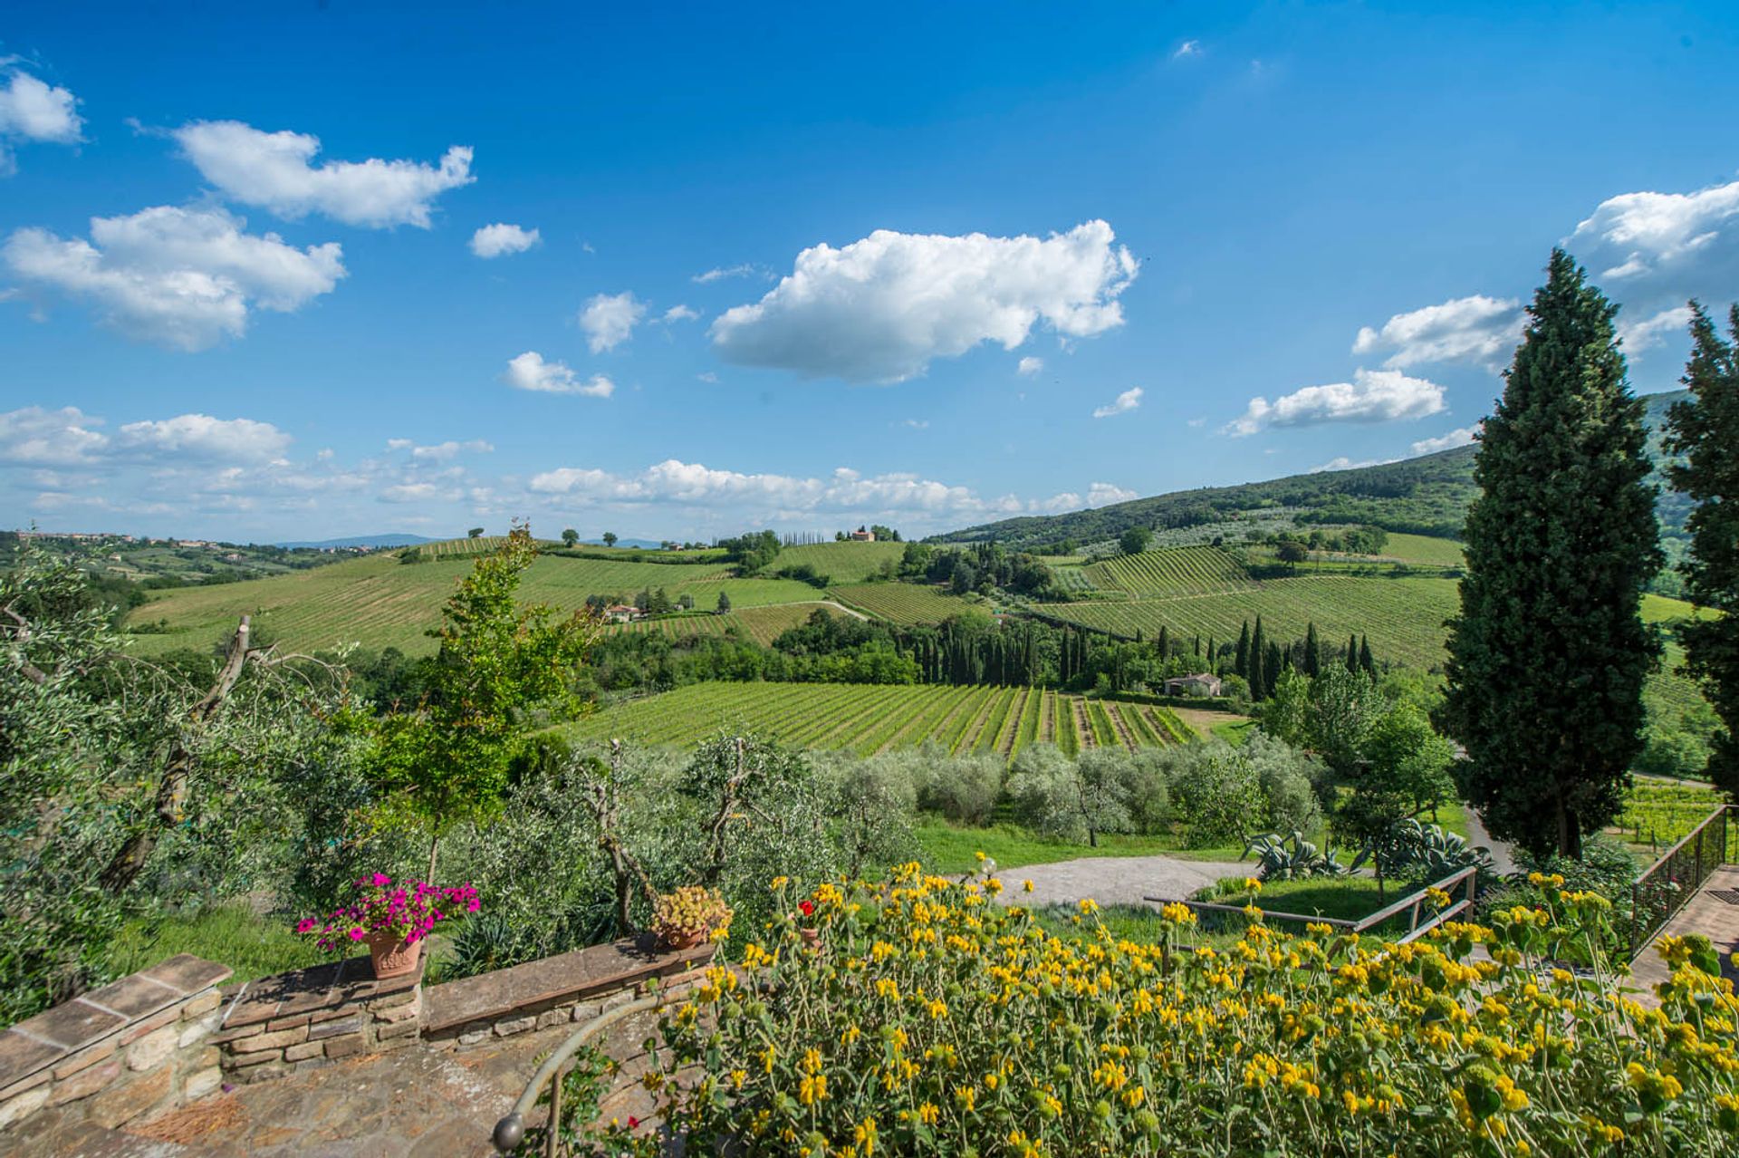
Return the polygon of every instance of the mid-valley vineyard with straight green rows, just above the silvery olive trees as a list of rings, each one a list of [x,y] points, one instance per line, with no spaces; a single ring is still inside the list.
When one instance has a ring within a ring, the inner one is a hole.
[[[586,716],[576,739],[687,748],[718,730],[753,730],[795,748],[868,756],[934,741],[949,753],[1014,756],[1035,742],[1167,748],[1195,732],[1167,708],[1045,689],[904,683],[696,683]]]

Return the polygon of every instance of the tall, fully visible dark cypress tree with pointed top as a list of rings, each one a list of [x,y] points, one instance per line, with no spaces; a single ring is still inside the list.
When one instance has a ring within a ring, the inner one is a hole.
[[[1617,815],[1661,652],[1640,616],[1661,549],[1616,313],[1553,250],[1480,436],[1449,621],[1438,723],[1468,751],[1462,788],[1492,836],[1536,855],[1579,857]]]

